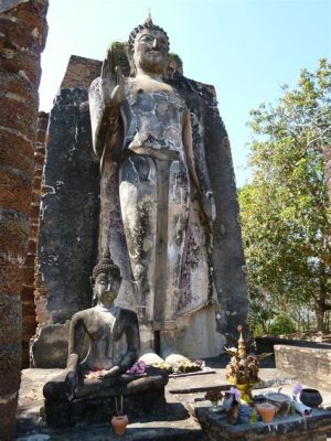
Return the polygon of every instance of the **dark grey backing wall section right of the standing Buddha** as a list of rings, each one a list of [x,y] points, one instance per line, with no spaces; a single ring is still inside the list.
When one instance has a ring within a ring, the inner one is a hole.
[[[217,330],[222,334],[236,334],[236,326],[246,323],[248,303],[231,144],[218,112],[214,87],[185,78],[178,73],[173,84],[185,96],[191,110],[199,112],[196,95],[204,103],[205,155],[216,206],[212,267],[218,303]]]

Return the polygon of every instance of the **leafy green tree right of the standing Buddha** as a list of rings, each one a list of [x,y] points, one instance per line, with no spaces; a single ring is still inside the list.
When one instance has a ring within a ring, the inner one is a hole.
[[[276,106],[252,110],[253,182],[239,191],[252,299],[307,304],[323,331],[331,309],[330,217],[323,152],[331,146],[331,64],[302,69]]]

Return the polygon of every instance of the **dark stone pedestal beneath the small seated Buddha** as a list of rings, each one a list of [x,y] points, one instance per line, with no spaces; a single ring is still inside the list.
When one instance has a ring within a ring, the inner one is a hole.
[[[119,402],[119,399],[117,400]],[[122,410],[129,419],[164,413],[164,386],[156,390],[124,396]],[[110,423],[114,415],[116,415],[115,397],[78,398],[73,401],[45,400],[44,406],[45,422],[52,428],[65,428],[79,423]]]

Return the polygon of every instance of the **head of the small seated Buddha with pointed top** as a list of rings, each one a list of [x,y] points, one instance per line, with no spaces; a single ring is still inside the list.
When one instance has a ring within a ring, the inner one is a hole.
[[[106,308],[111,306],[120,288],[121,276],[118,266],[110,258],[108,248],[102,260],[93,269],[92,282],[97,304]]]

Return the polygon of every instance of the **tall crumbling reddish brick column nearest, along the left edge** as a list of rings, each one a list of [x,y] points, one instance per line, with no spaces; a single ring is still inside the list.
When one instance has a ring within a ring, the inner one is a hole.
[[[26,258],[47,0],[0,3],[0,433],[13,438],[21,376]]]

